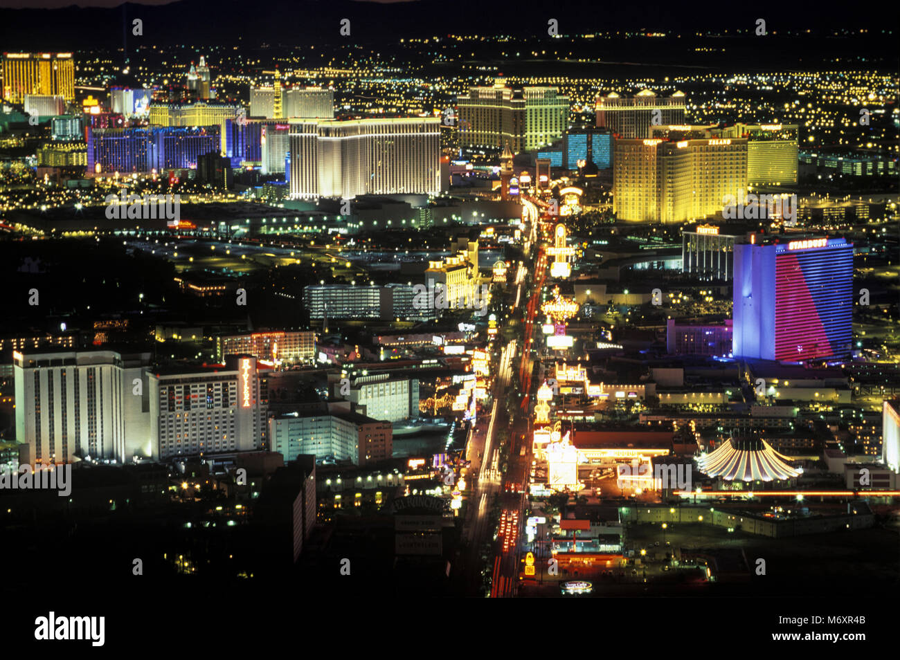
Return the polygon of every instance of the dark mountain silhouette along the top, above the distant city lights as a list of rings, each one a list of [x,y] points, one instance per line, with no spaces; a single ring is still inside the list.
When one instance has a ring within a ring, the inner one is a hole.
[[[148,44],[212,44],[244,40],[252,45],[315,44],[336,40],[395,42],[403,36],[455,34],[546,35],[551,18],[560,33],[587,31],[667,31],[693,33],[753,29],[767,21],[769,31],[820,31],[853,28],[873,22],[896,31],[896,4],[868,3],[865,11],[852,4],[764,2],[729,4],[619,3],[572,0],[414,0],[381,4],[351,0],[181,0],[164,5],[123,4],[120,7],[60,9],[0,9],[2,47],[9,49],[84,49],[121,47],[127,30],[130,47]],[[131,36],[131,21],[143,21],[143,36]],[[351,22],[351,36],[339,34],[341,19]],[[883,22],[881,19],[884,19]],[[874,35],[873,35],[874,36]]]

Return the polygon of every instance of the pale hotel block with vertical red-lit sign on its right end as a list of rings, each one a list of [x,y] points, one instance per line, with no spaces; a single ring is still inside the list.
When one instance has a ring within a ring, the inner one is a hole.
[[[250,355],[224,370],[155,370],[148,377],[152,458],[266,449],[268,381]]]

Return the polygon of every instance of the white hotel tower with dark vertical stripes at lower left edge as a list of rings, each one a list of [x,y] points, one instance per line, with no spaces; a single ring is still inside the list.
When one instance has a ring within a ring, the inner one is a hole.
[[[14,352],[16,441],[28,445],[32,462],[148,457],[148,360],[148,353]]]

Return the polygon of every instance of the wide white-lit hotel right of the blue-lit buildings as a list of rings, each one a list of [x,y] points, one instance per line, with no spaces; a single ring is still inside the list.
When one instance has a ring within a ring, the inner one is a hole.
[[[440,119],[290,120],[291,199],[434,193]]]

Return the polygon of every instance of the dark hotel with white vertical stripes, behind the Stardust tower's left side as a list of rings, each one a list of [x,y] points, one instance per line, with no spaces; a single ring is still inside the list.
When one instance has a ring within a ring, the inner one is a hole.
[[[681,233],[681,272],[706,281],[731,281],[734,245],[747,242],[748,227],[697,225]]]

